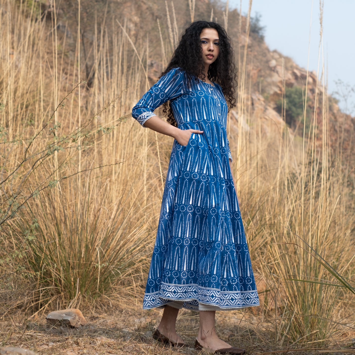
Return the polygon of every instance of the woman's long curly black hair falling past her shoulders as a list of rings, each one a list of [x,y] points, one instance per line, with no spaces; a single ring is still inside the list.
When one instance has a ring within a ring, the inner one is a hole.
[[[237,70],[234,64],[231,39],[225,29],[217,22],[192,22],[182,34],[178,47],[176,47],[168,66],[160,74],[159,78],[176,67],[185,70],[189,81],[199,81],[199,77],[203,79],[206,77],[200,39],[200,34],[204,28],[214,28],[219,35],[219,55],[209,65],[207,77],[222,87],[229,112],[236,105],[235,88],[237,86]],[[162,112],[171,125],[177,126],[170,101],[163,104]]]

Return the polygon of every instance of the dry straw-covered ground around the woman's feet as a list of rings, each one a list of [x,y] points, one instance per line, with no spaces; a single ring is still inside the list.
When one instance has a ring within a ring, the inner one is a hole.
[[[151,335],[158,325],[161,310],[115,310],[103,313],[98,310],[83,311],[89,321],[78,329],[53,327],[46,324],[45,315],[35,315],[28,319],[28,314],[18,313],[8,316],[0,323],[0,345],[16,346],[33,350],[38,354],[196,354],[193,348],[198,332],[196,312],[182,310],[177,322],[178,332],[190,345],[188,349],[174,349],[163,346],[152,339]],[[316,344],[294,344],[289,348],[280,348],[270,340],[267,324],[260,324],[260,317],[255,310],[217,312],[217,332],[238,347],[245,348],[247,354],[282,353],[319,354],[323,348]],[[344,342],[349,344],[349,332],[344,333]],[[342,345],[342,344],[339,344]],[[332,346],[335,349],[336,346]],[[339,349],[339,346],[338,346]],[[288,352],[287,350],[293,350]],[[329,353],[335,351],[330,350]],[[355,349],[342,351],[355,354]],[[340,354],[337,352],[337,354]]]

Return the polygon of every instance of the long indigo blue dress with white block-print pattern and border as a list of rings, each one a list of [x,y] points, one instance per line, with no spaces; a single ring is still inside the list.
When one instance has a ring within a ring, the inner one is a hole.
[[[196,78],[197,79],[197,78]],[[229,166],[227,103],[222,88],[189,82],[174,68],[133,107],[143,127],[170,100],[178,127],[195,129],[189,143],[174,140],[143,308],[172,300],[198,310],[259,305],[236,191]]]

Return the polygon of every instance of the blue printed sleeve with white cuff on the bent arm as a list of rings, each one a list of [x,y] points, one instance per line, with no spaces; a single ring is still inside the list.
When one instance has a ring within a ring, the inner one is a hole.
[[[184,93],[184,71],[173,68],[164,74],[137,102],[132,117],[143,127],[144,122],[154,116],[154,110],[164,102]]]

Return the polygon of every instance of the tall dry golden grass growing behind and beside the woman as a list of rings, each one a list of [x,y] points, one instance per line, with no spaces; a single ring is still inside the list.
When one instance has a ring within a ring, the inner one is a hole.
[[[0,0],[2,279],[29,280],[32,311],[128,296],[139,306],[172,143],[130,118],[147,88],[153,49],[145,38],[134,47],[125,24],[108,33],[95,23],[88,87],[80,82],[80,40],[71,58],[66,35],[56,33],[56,12],[48,31],[37,3],[28,4]],[[193,18],[195,1],[189,4]],[[249,18],[250,10],[246,38]],[[170,38],[161,37],[162,53],[169,40],[176,43],[173,23],[172,29],[169,18]],[[247,41],[237,53],[239,104],[229,117],[229,141],[253,268],[268,285],[260,327],[267,324],[281,344],[322,342],[341,328],[335,322],[343,323],[353,302],[351,285],[328,285],[339,278],[317,256],[352,276],[349,171],[329,147],[324,84],[317,99],[321,132],[313,124],[304,139],[285,126],[265,133],[275,124],[248,104],[246,48]],[[1,288],[5,294],[8,286]]]

